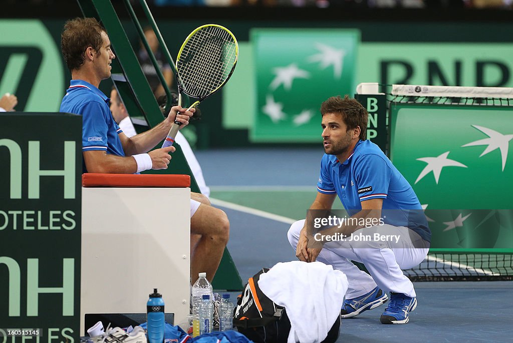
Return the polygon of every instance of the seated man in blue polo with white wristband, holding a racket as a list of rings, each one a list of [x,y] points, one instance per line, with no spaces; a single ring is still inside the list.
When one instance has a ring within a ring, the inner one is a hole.
[[[171,146],[150,150],[167,136],[175,118],[184,127],[195,110],[173,106],[162,123],[129,138],[114,122],[109,98],[98,89],[100,82],[110,77],[110,64],[115,58],[106,30],[94,18],[75,18],[64,26],[61,48],[71,71],[71,85],[60,111],[82,115],[84,172],[133,174],[167,169],[169,153],[175,149]],[[206,272],[212,281],[228,242],[228,218],[223,211],[210,206],[202,194],[191,193],[190,202],[191,282],[200,272]],[[169,216],[172,223],[172,204],[169,213],[149,215]]]

